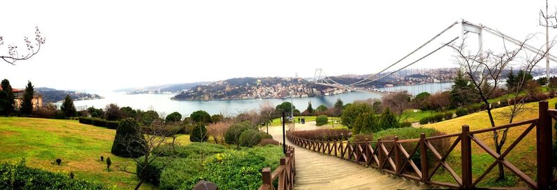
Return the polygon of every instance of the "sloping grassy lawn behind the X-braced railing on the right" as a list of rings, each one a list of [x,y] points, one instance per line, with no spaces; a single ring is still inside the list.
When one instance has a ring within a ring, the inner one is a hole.
[[[552,98],[549,100],[550,107],[554,107],[557,98]],[[524,121],[528,119],[536,119],[538,118],[538,103],[528,103],[527,106],[528,110],[522,114],[520,114],[516,119],[517,121]],[[497,126],[503,125],[508,123],[508,118],[503,116],[501,113],[508,110],[508,107],[501,107],[498,109],[493,110],[495,123]],[[469,125],[470,130],[480,130],[483,128],[490,128],[489,124],[489,117],[487,116],[487,112],[477,112],[474,114],[469,114],[466,116],[461,116],[456,119],[450,119],[447,121],[441,121],[439,123],[430,123],[423,127],[425,128],[435,128],[439,131],[446,132],[447,134],[458,133],[462,131],[463,125]],[[516,128],[511,128],[508,132],[508,138],[503,146],[502,152],[504,152],[510,144],[512,144],[519,135],[521,135],[524,130],[526,130],[528,126],[519,126]],[[478,135],[481,141],[483,141],[487,146],[494,150],[494,141],[493,141],[493,133],[492,132],[484,132]],[[455,139],[451,139],[451,144]],[[536,173],[536,163],[535,163],[535,128],[528,133],[528,135],[522,139],[522,141],[513,148],[509,155],[505,157],[508,159],[509,162],[517,166],[518,169],[524,171],[528,176],[532,179],[535,179]],[[487,154],[485,150],[480,148],[476,145],[476,143],[472,142],[472,166],[473,166],[473,179],[476,180],[486,169],[487,167],[494,162],[494,158],[491,155]],[[455,150],[450,153],[448,158],[448,164],[453,167],[456,173],[460,175],[460,144],[456,146]],[[441,167],[442,168],[442,167]],[[524,186],[527,185],[524,182],[520,182],[519,178],[512,174],[508,169],[505,169],[505,174],[508,177],[508,180],[503,182],[498,182],[496,179],[497,176],[497,169],[494,168],[487,177],[478,184],[478,187],[505,187],[505,186]],[[440,180],[444,182],[455,182],[450,175],[444,170],[439,170],[436,175],[433,176],[434,180]]]

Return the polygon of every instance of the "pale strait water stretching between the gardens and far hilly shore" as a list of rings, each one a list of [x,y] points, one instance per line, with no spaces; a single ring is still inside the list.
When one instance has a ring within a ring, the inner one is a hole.
[[[437,92],[440,89],[450,87],[451,83],[436,83],[433,85],[414,85],[403,87],[382,88],[381,90],[399,91],[406,89],[411,94],[417,94],[418,91]],[[103,99],[74,101],[78,109],[94,106],[96,108],[104,108],[109,103],[116,103],[120,107],[130,106],[134,109],[155,110],[159,114],[170,114],[171,112],[180,112],[182,115],[189,115],[197,110],[205,110],[210,114],[237,114],[239,112],[258,109],[262,103],[269,101],[272,105],[278,105],[283,101],[292,101],[298,110],[306,110],[308,102],[311,101],[315,108],[319,105],[332,107],[336,100],[340,98],[344,103],[352,103],[356,100],[366,100],[368,98],[381,98],[377,94],[365,92],[348,92],[344,94],[336,94],[333,96],[320,96],[311,98],[269,98],[264,100],[230,100],[230,101],[173,101],[170,98],[175,94],[124,94],[118,92],[91,92],[103,96]]]

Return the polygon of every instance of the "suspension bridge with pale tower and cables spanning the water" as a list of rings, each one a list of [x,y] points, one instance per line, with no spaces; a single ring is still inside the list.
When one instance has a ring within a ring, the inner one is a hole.
[[[445,35],[448,31],[450,31],[451,28],[454,28],[455,26],[459,26],[459,25],[461,26],[460,36],[450,38],[448,42],[441,43],[439,46],[437,46],[437,48],[425,53],[425,55],[422,55],[416,60],[412,60],[407,64],[402,64],[411,55],[415,55],[415,54],[418,55],[416,52],[430,45],[431,42],[437,40],[439,37]],[[516,38],[510,37],[509,35],[505,35],[504,33],[501,33],[501,31],[496,31],[493,28],[489,28],[488,26],[485,26],[483,24],[473,24],[469,21],[462,19],[460,21],[455,21],[454,23],[450,24],[448,27],[444,28],[443,31],[437,33],[437,35],[434,35],[430,40],[427,40],[425,43],[421,44],[421,46],[418,46],[418,48],[414,49],[414,51],[411,51],[404,57],[389,64],[387,67],[384,67],[383,69],[381,69],[379,72],[375,74],[371,74],[370,76],[361,78],[356,82],[343,83],[343,82],[336,81],[336,79],[333,76],[328,76],[327,74],[325,74],[325,71],[323,69],[315,69],[314,76],[313,76],[313,83],[315,83],[316,85],[335,87],[337,89],[345,89],[347,91],[368,92],[368,93],[379,94],[379,95],[389,94],[391,92],[405,91],[405,88],[402,88],[401,86],[414,87],[414,85],[423,85],[423,84],[429,84],[433,86],[434,83],[450,83],[452,82],[452,77],[454,76],[455,73],[451,74],[449,72],[448,74],[442,74],[440,71],[437,72],[433,71],[433,69],[430,69],[429,72],[424,72],[423,69],[408,69],[408,68],[418,62],[421,62],[428,56],[433,55],[437,51],[450,46],[451,44],[457,42],[457,40],[459,39],[466,40],[466,36],[469,33],[473,33],[478,36],[478,52],[481,52],[483,49],[483,34],[488,33],[490,35],[494,35],[495,37],[500,37],[505,42],[510,42],[511,44],[522,46],[522,48],[526,51],[531,51],[532,53],[537,53],[538,55],[545,55],[544,51],[542,51],[541,49],[535,48],[534,46],[531,46],[529,44],[525,44],[524,42],[521,42]],[[557,57],[550,54],[547,55],[547,59],[553,62],[557,61]],[[397,68],[397,69],[393,69],[393,68]],[[389,69],[393,69],[393,70],[391,71]],[[548,69],[548,76],[549,76],[549,64],[547,69]],[[390,90],[381,90],[379,89],[379,87],[381,87],[380,85],[379,86],[375,85],[375,83],[380,81],[386,83],[386,85],[383,85],[384,87],[394,87],[394,88],[391,88]],[[418,93],[426,92],[426,91],[427,89],[425,89],[424,87],[423,89],[412,90],[412,92],[418,92]]]

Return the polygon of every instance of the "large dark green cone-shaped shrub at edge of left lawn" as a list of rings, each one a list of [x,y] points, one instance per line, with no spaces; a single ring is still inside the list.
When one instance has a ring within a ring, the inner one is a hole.
[[[139,124],[134,119],[120,121],[111,153],[121,157],[139,157],[145,155],[146,148],[147,141],[139,129]]]

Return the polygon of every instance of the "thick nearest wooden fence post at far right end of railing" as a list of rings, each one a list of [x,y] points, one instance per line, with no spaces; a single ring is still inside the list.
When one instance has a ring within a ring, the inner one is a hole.
[[[549,189],[553,180],[551,165],[551,142],[553,139],[551,131],[551,116],[549,116],[549,104],[540,101],[538,126],[536,127],[536,147],[538,155],[538,189]]]

